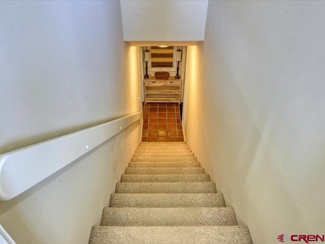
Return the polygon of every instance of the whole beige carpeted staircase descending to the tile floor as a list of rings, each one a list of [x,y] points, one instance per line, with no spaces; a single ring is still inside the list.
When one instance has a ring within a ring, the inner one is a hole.
[[[141,142],[89,243],[252,240],[185,142]]]

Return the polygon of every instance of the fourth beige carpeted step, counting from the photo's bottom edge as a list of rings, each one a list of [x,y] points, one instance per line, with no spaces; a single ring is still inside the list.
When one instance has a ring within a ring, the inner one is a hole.
[[[215,183],[202,182],[118,182],[115,193],[216,193]]]

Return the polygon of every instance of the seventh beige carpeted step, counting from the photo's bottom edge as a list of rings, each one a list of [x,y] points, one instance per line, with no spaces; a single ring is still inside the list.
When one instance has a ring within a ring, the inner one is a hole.
[[[140,168],[186,168],[186,167],[201,167],[200,162],[129,162],[128,167]]]

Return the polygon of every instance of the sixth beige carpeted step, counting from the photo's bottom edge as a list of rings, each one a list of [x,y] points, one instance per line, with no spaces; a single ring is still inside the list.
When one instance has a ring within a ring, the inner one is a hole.
[[[205,174],[202,167],[186,168],[145,168],[145,167],[126,167],[125,174]]]

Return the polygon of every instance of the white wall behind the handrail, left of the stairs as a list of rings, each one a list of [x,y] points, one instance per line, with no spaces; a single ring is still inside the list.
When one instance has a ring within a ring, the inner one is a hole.
[[[0,3],[0,154],[141,111],[120,3]],[[136,123],[8,202],[17,243],[87,243],[140,140]]]

